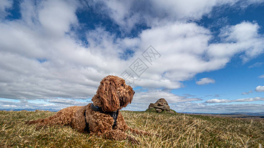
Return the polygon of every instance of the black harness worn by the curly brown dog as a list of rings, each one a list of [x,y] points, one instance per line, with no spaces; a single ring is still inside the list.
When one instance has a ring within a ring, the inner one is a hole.
[[[109,114],[111,117],[113,117],[113,126],[112,126],[112,129],[116,126],[116,119],[117,119],[117,116],[118,116],[118,112],[119,110],[117,111],[110,111],[110,112],[106,112],[106,111],[103,111],[101,107],[98,107],[98,106],[94,106],[94,104],[91,104],[91,109],[93,111],[99,111],[100,113],[105,113],[105,114]],[[86,131],[87,133],[90,133],[90,130],[89,130],[89,123],[86,121],[86,110],[84,111],[83,115],[84,115],[84,119],[85,119],[85,128],[84,128],[84,131]]]

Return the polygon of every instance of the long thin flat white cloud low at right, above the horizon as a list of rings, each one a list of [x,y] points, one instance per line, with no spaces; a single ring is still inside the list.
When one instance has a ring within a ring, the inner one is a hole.
[[[243,98],[236,100],[211,99],[211,100],[207,100],[205,103],[231,103],[231,102],[254,102],[254,101],[264,101],[264,98],[255,97],[255,98]]]

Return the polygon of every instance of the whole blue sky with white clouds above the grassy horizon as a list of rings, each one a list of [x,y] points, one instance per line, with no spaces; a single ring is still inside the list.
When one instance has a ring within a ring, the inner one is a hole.
[[[264,111],[263,0],[1,0],[0,33],[1,110],[86,105],[112,74],[124,110]]]

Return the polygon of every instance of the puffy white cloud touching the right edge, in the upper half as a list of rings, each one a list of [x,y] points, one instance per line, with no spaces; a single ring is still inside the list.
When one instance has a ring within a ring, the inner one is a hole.
[[[219,37],[223,43],[212,43],[208,53],[214,58],[230,58],[234,54],[241,55],[243,62],[264,52],[264,39],[258,34],[259,25],[257,23],[242,22],[234,26],[227,26],[222,29]]]

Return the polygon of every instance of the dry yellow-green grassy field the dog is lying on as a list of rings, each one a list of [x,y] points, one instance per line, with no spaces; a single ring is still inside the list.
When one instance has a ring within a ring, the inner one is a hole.
[[[202,115],[121,111],[133,128],[159,136],[133,135],[140,145],[105,140],[70,127],[37,129],[25,120],[44,118],[50,111],[0,111],[0,148],[262,148],[264,119],[234,119]],[[129,133],[129,132],[128,132]],[[131,134],[131,133],[129,133]]]

